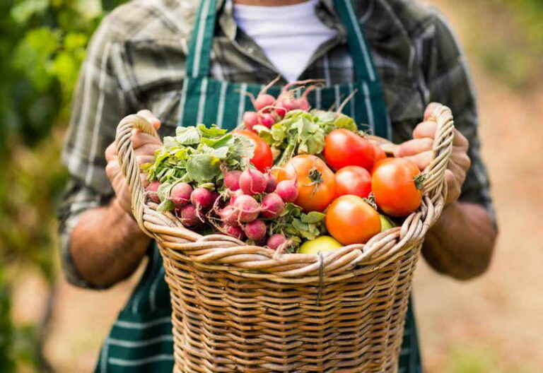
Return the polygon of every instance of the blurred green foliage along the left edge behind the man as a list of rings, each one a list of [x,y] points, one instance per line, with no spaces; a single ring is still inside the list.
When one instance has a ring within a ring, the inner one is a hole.
[[[124,1],[0,1],[0,372],[39,366],[39,332],[11,322],[17,265],[54,282],[55,206],[66,181],[62,134],[86,45]]]

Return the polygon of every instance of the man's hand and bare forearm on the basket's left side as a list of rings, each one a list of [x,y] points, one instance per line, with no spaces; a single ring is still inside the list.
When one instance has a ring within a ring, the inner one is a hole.
[[[156,129],[160,127],[148,110],[138,114]],[[139,131],[132,134],[132,144],[139,165],[151,162],[153,152],[162,145],[158,138]],[[150,241],[132,218],[131,195],[119,167],[115,141],[105,150],[105,158],[105,170],[116,197],[107,206],[90,208],[81,214],[71,233],[69,248],[78,272],[99,288],[107,288],[134,273]],[[144,175],[142,182],[146,183]]]

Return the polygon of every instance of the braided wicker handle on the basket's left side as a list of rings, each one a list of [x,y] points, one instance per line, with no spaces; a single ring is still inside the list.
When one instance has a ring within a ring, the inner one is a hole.
[[[144,227],[144,187],[141,185],[140,173],[136,157],[134,155],[134,148],[132,148],[132,132],[137,129],[145,134],[158,137],[155,127],[148,122],[143,116],[139,114],[132,114],[128,117],[124,117],[117,126],[117,135],[115,141],[117,141],[117,157],[119,158],[119,165],[121,166],[122,174],[127,179],[128,189],[132,194],[132,213],[134,218],[138,222],[141,230],[152,236]]]

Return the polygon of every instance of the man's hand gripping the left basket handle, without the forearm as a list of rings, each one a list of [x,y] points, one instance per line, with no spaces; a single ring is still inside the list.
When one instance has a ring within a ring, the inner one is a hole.
[[[147,119],[155,129],[160,128],[160,121],[149,110],[141,110],[138,114]],[[144,163],[153,162],[153,154],[155,150],[162,146],[162,143],[154,136],[134,130],[134,133],[132,134],[132,146],[134,148],[134,155],[136,155],[137,164],[143,165]],[[132,214],[132,196],[119,166],[119,158],[117,158],[117,141],[113,141],[110,146],[107,147],[105,150],[105,159],[107,160],[105,172],[110,179],[115,195],[117,196],[117,203],[119,203],[124,211]],[[141,182],[144,187],[148,184],[144,174],[141,174]]]

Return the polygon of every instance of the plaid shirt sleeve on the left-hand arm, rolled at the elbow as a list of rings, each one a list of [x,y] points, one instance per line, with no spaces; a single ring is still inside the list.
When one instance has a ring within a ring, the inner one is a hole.
[[[105,174],[105,148],[127,105],[112,65],[112,32],[107,23],[93,35],[79,74],[62,160],[70,180],[58,209],[59,242],[66,279],[79,287],[95,288],[83,280],[71,259],[70,235],[81,213],[105,205],[113,196]]]

